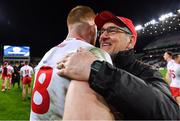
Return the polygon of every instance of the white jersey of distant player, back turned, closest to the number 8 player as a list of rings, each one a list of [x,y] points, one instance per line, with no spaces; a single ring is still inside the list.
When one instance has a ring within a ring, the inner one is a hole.
[[[22,75],[22,77],[26,77],[26,76],[32,77],[33,73],[34,73],[33,68],[29,65],[24,65],[20,69],[20,74]]]

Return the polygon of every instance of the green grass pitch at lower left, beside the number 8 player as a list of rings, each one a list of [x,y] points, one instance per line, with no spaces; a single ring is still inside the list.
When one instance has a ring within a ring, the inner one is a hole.
[[[2,80],[0,80],[0,89]],[[17,83],[11,90],[0,91],[0,120],[29,120],[31,100],[22,101]]]

